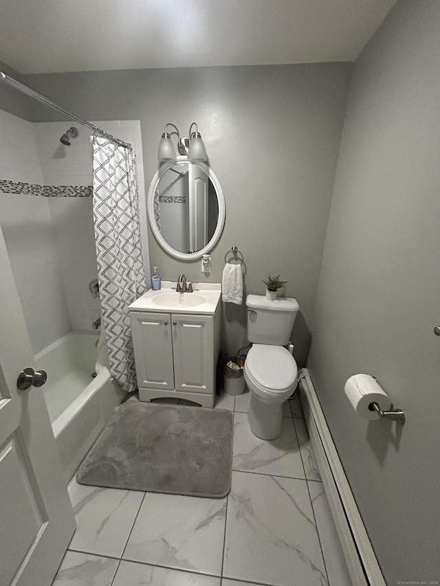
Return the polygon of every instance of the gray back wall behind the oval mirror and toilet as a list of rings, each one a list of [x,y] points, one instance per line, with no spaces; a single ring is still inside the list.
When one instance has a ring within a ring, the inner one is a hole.
[[[196,121],[226,200],[226,223],[212,251],[212,273],[200,261],[177,262],[149,238],[151,266],[163,279],[220,282],[225,253],[239,247],[245,289],[281,273],[302,314],[294,330],[305,363],[308,324],[324,244],[351,65],[151,69],[28,76],[36,91],[89,120],[140,119],[146,185],[157,169],[164,124],[186,134]],[[47,120],[47,111],[34,113]],[[223,311],[223,346],[247,343],[244,306]]]

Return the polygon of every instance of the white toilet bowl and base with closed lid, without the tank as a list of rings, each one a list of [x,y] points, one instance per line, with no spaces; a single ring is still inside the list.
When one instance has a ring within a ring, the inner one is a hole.
[[[244,368],[251,393],[248,420],[252,433],[262,440],[281,435],[283,403],[298,382],[295,359],[283,346],[254,343]]]

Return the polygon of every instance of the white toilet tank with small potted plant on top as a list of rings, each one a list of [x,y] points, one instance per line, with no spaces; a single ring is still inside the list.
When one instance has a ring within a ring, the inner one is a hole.
[[[248,340],[257,344],[285,346],[290,339],[300,306],[296,299],[277,297],[270,301],[264,295],[248,295]]]

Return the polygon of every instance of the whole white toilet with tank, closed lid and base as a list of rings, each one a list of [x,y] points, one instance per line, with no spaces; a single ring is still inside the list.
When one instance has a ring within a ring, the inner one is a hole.
[[[248,340],[252,348],[245,361],[245,381],[251,393],[248,420],[252,433],[262,440],[281,435],[283,403],[298,383],[298,367],[284,348],[294,326],[296,299],[248,295]]]

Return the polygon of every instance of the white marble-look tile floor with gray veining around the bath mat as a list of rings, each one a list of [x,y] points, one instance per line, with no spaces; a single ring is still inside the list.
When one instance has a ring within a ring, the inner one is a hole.
[[[248,405],[249,392],[217,397],[234,412],[224,499],[72,480],[78,528],[52,586],[349,586],[299,398],[272,442],[250,431]]]

